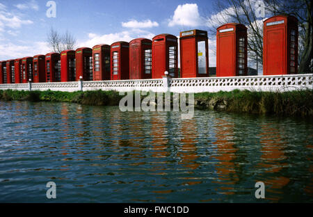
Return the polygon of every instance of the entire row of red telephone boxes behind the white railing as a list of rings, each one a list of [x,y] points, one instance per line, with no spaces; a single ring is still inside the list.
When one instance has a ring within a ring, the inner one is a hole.
[[[278,15],[264,21],[264,75],[298,73],[298,20]],[[207,31],[182,31],[179,37],[180,77],[209,77]],[[177,37],[81,47],[0,62],[0,83],[160,79],[165,71],[178,77]],[[243,24],[224,24],[216,32],[216,76],[245,76],[248,37]]]

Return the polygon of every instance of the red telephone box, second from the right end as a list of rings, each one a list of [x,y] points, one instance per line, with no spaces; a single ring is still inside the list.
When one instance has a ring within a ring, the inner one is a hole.
[[[247,75],[247,27],[224,24],[216,33],[216,77]]]

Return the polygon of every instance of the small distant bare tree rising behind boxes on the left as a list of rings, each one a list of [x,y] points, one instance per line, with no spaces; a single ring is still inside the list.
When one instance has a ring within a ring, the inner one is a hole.
[[[61,53],[66,49],[74,49],[77,40],[69,31],[66,31],[61,35],[61,33],[58,33],[58,31],[51,27],[47,34],[47,42],[51,47],[51,51]]]

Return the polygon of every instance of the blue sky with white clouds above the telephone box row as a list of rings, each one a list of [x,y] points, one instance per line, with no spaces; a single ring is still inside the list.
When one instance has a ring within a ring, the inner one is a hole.
[[[253,1],[253,0],[252,0]],[[160,33],[179,35],[188,29],[208,30],[222,11],[214,0],[54,0],[56,17],[47,17],[47,0],[0,0],[0,61],[47,54],[51,26],[70,31],[77,47],[93,47]],[[230,8],[228,8],[230,9]],[[227,8],[225,8],[227,10]],[[209,65],[216,65],[216,38],[209,38]]]

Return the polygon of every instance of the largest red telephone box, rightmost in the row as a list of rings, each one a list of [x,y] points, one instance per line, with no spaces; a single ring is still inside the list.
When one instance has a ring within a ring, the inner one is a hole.
[[[264,21],[263,74],[298,73],[298,20],[278,15]]]

